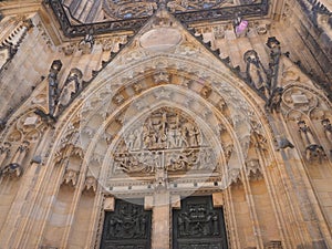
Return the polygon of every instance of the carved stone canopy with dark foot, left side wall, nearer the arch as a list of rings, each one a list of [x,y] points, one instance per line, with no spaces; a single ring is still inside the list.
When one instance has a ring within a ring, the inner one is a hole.
[[[22,163],[27,156],[30,147],[30,142],[23,141],[22,144],[18,147],[11,163],[1,168],[0,176],[17,176],[20,177],[23,174]]]

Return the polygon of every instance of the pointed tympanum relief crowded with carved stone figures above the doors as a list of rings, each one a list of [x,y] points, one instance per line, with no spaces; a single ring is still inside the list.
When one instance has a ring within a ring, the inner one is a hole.
[[[214,170],[216,155],[197,124],[178,110],[163,107],[137,122],[117,144],[114,172],[155,174]]]

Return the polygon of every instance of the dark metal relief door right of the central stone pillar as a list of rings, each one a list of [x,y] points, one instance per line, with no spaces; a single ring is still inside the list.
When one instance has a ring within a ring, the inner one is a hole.
[[[210,196],[188,197],[173,211],[173,249],[227,249],[222,209]]]

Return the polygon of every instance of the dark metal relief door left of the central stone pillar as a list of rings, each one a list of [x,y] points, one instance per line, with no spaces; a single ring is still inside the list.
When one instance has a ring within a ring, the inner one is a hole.
[[[105,212],[101,249],[151,248],[152,214],[136,203],[117,199],[115,210]]]

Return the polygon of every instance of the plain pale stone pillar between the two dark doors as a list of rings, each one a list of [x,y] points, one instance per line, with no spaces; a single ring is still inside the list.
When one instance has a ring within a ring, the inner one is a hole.
[[[154,195],[152,222],[152,249],[169,249],[170,206],[167,190]]]

